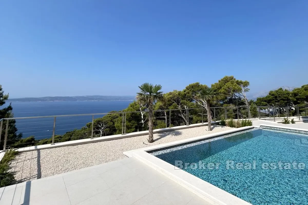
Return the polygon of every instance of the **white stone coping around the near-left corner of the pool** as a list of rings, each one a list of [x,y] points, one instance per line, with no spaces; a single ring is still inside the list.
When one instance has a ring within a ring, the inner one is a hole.
[[[195,140],[207,139],[210,137],[220,136],[222,134],[230,134],[234,132],[240,132],[252,128],[259,128],[260,126],[252,125],[242,128],[234,128],[231,130],[215,132],[213,134],[207,134],[203,136],[192,137],[184,140],[178,140],[174,142],[154,145],[146,148],[135,149],[131,151],[123,152],[126,157],[135,157],[137,160],[148,165],[149,167],[155,169],[160,174],[168,177],[172,181],[178,183],[182,187],[193,192],[195,195],[204,199],[210,204],[213,205],[227,205],[227,204],[237,204],[237,205],[249,205],[249,202],[246,202],[243,199],[238,198],[230,194],[229,192],[222,190],[219,187],[210,184],[209,182],[204,181],[184,170],[175,169],[172,164],[165,162],[157,158],[156,156],[151,155],[148,151],[155,149],[166,148],[173,145],[183,144],[187,142],[192,142]],[[250,204],[251,205],[251,204]]]

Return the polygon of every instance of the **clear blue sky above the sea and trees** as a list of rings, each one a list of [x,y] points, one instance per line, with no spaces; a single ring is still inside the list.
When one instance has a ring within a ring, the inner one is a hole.
[[[135,95],[225,75],[251,92],[308,83],[308,1],[2,1],[10,97]]]

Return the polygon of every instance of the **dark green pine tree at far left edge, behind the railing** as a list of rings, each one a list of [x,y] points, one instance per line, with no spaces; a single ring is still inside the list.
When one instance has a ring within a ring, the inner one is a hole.
[[[3,107],[3,105],[6,103],[5,101],[8,98],[9,98],[9,94],[4,94],[4,91],[2,90],[2,85],[0,85],[0,107]],[[13,111],[13,107],[11,103],[9,104],[9,106],[0,109],[0,119],[14,117],[12,111]],[[6,148],[9,148],[10,145],[14,144],[19,139],[22,138],[22,133],[17,134],[17,128],[16,128],[15,123],[16,123],[16,120],[9,120]],[[5,129],[6,129],[6,120],[3,120],[0,150],[3,149]]]

